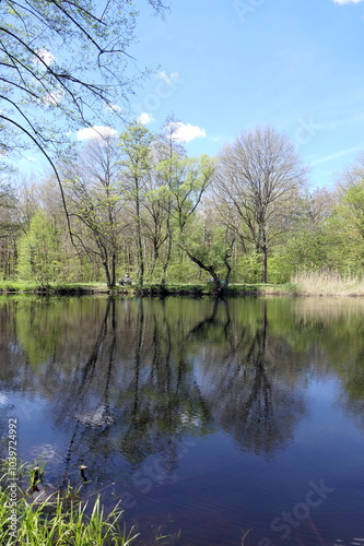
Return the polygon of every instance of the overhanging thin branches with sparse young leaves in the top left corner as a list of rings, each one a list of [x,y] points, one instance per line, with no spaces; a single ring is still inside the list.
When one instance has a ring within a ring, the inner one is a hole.
[[[162,0],[149,3],[163,12]],[[0,2],[1,149],[25,138],[50,159],[64,123],[79,128],[105,122],[107,111],[118,115],[134,81],[127,49],[137,16],[125,0]]]

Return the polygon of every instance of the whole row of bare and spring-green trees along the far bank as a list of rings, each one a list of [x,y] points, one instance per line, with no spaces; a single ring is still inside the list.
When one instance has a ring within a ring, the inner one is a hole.
[[[364,157],[309,191],[295,146],[273,128],[243,132],[218,158],[188,157],[168,119],[74,144],[54,176],[2,177],[3,280],[283,283],[307,270],[362,276]]]

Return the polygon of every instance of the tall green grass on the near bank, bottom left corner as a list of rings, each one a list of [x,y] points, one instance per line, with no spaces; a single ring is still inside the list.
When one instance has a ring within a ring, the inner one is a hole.
[[[99,497],[91,505],[72,488],[55,491],[42,500],[17,486],[16,499],[9,485],[7,461],[0,461],[0,544],[7,546],[129,546],[137,538],[120,527],[122,510],[117,505],[106,513]],[[24,470],[24,465],[22,466]],[[22,470],[20,471],[22,475]],[[21,482],[19,482],[21,483]],[[32,478],[31,478],[32,484]],[[13,519],[12,519],[13,518]]]

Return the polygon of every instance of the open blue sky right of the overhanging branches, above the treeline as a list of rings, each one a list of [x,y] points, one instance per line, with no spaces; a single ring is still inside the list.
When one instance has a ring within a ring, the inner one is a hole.
[[[215,155],[272,124],[295,141],[313,187],[331,186],[364,151],[363,0],[171,4],[165,21],[143,10],[130,50],[156,69],[133,102],[151,130],[173,112],[189,154]]]

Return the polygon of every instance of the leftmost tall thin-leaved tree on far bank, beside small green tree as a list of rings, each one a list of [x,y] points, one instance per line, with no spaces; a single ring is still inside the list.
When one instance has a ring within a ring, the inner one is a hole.
[[[115,139],[97,139],[61,167],[74,245],[81,256],[103,265],[108,288],[116,284],[120,232],[125,224],[118,158]]]

